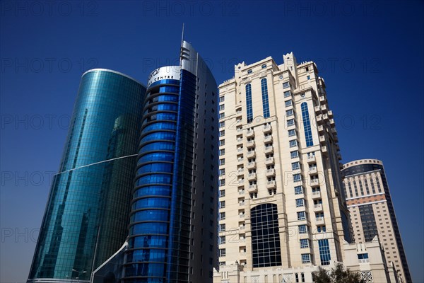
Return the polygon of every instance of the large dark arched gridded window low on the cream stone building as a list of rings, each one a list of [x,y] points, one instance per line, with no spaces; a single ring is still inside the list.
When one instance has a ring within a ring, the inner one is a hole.
[[[260,204],[251,210],[253,267],[281,265],[277,204]]]

